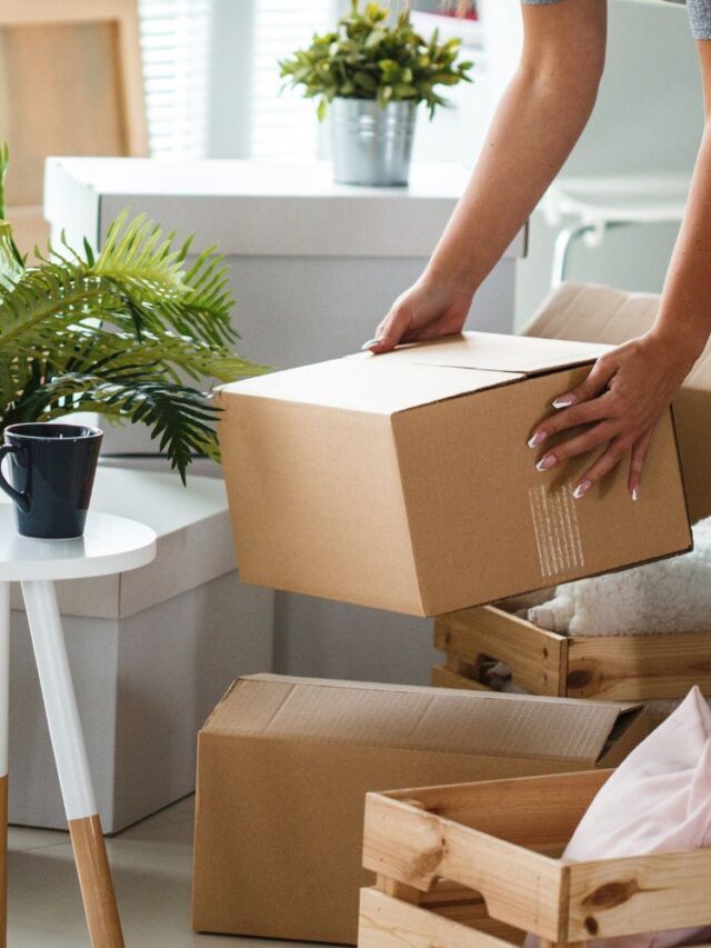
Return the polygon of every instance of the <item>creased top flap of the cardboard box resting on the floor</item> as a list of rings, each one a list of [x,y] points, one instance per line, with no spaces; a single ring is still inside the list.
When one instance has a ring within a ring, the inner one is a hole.
[[[594,766],[629,705],[439,688],[239,679],[203,731]]]

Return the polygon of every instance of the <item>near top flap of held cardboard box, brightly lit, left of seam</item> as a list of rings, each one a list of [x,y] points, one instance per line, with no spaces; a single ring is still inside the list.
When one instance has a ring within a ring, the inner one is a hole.
[[[221,395],[251,396],[303,405],[392,415],[460,395],[494,388],[521,373],[477,371],[385,361],[381,358],[333,359],[299,369],[222,386]]]

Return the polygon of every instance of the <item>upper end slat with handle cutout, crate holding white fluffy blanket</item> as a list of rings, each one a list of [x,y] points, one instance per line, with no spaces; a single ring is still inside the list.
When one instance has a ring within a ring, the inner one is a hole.
[[[482,656],[505,661],[515,683],[535,695],[565,693],[568,639],[492,606],[438,619],[434,645],[474,666]]]

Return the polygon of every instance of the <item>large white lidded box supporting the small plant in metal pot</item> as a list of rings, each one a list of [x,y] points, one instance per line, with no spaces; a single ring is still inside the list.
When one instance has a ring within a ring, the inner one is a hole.
[[[333,184],[330,167],[318,162],[54,158],[46,214],[77,246],[84,234],[100,246],[129,206],[180,237],[194,231],[196,248],[219,243],[240,348],[287,368],[356,351],[372,336],[421,273],[468,178],[464,164],[415,163],[408,188],[354,188]],[[511,330],[524,237],[477,295],[472,328]],[[104,451],[152,450],[139,427],[107,430]],[[274,670],[424,683],[431,635],[427,620],[278,593]]]

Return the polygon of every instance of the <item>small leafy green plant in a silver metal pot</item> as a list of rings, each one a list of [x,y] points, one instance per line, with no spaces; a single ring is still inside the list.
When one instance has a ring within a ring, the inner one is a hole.
[[[410,22],[409,8],[389,24],[379,3],[361,11],[352,0],[334,32],[316,34],[308,49],[279,64],[287,84],[319,99],[323,119],[332,103],[333,177],[348,184],[407,184],[417,107],[430,119],[447,101],[439,86],[470,82],[471,62],[457,63],[460,40],[429,42]]]

